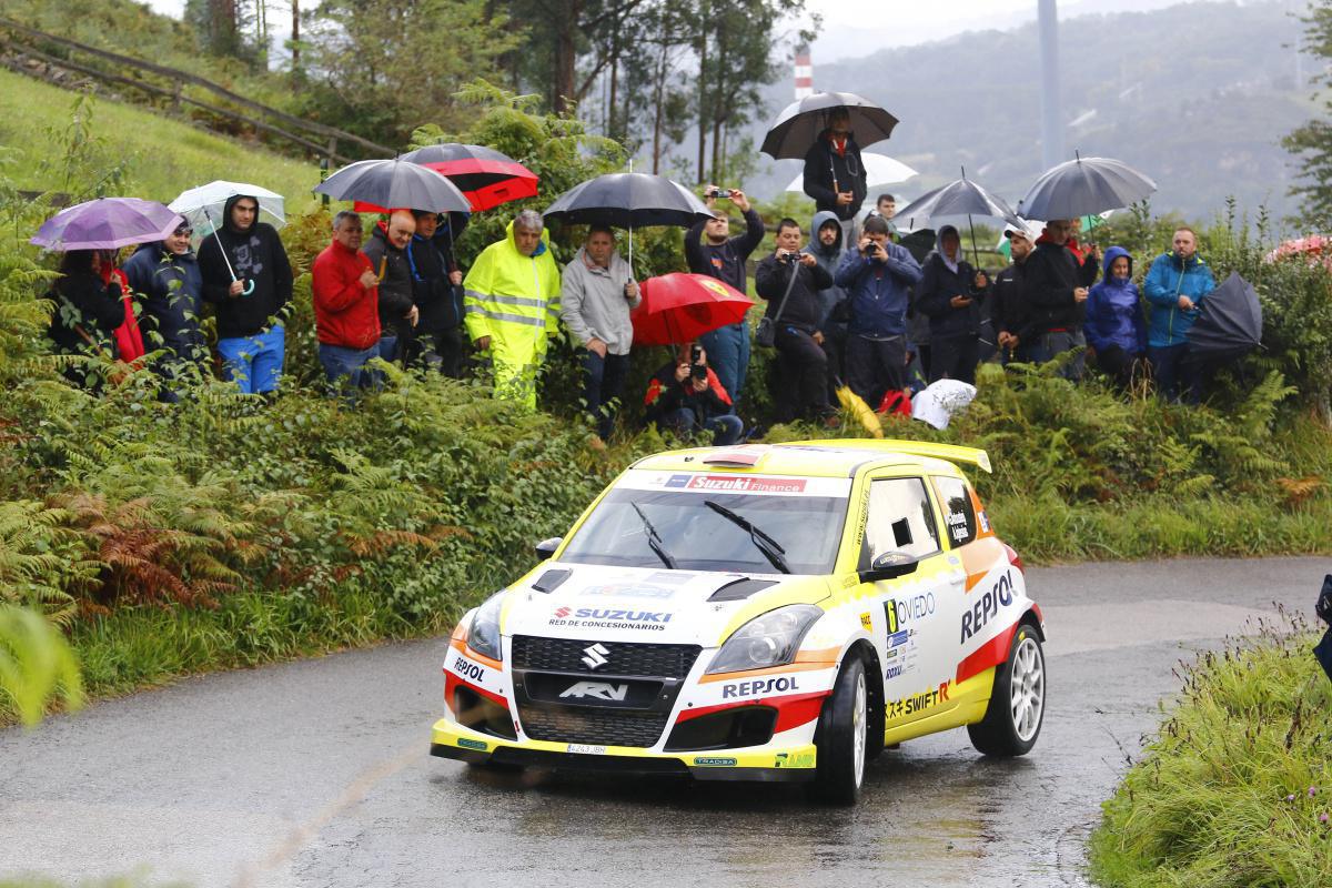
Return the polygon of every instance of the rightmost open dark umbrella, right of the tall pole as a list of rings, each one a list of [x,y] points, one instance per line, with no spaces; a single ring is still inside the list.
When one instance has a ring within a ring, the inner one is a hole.
[[[1047,170],[1018,210],[1027,218],[1082,218],[1144,200],[1156,182],[1110,157],[1076,157]]]

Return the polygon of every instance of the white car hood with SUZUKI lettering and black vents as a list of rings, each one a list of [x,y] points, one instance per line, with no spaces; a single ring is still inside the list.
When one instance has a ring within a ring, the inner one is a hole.
[[[503,635],[715,647],[759,614],[827,595],[822,576],[546,562],[509,588],[500,626]]]

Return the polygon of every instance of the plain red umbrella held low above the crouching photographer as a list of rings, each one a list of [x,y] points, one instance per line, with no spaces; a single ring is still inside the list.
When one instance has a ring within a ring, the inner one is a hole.
[[[643,301],[634,309],[635,345],[690,342],[703,333],[739,324],[754,308],[734,286],[707,274],[662,274],[642,282]]]

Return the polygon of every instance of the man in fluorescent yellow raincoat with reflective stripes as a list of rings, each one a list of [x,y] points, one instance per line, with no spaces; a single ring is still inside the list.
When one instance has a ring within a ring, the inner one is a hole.
[[[494,362],[496,397],[537,409],[537,367],[559,332],[559,266],[541,214],[522,210],[462,282],[468,335]]]

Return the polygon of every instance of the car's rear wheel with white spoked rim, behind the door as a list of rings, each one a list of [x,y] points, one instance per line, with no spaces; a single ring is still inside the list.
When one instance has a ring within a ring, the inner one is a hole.
[[[1046,718],[1046,654],[1027,623],[1018,626],[1008,659],[995,670],[986,716],[967,726],[971,746],[983,755],[1027,755],[1036,746]]]

